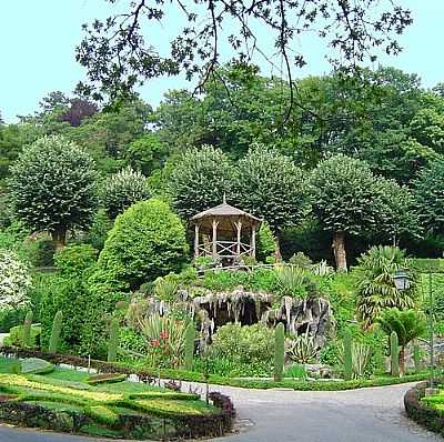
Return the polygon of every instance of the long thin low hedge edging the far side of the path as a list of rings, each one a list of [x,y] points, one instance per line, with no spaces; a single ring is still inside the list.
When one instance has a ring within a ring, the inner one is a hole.
[[[37,350],[17,349],[13,346],[0,348],[0,354],[14,355],[18,358],[41,358],[54,364],[70,364],[74,366],[88,368],[88,360],[84,358],[70,355],[70,354],[54,354]],[[163,379],[174,379],[179,381],[189,382],[205,382],[205,376],[202,373],[192,371],[178,371],[178,370],[141,370],[125,365],[123,363],[110,363],[104,361],[91,360],[90,366],[98,370],[99,373],[123,373],[135,374],[144,382],[153,382],[159,375]],[[428,373],[407,374],[403,378],[373,378],[360,379],[353,381],[296,381],[292,379],[284,379],[281,382],[272,380],[252,380],[252,379],[231,379],[210,374],[208,381],[215,385],[238,386],[243,389],[292,389],[299,391],[342,391],[354,390],[371,386],[385,386],[395,385],[408,382],[418,382],[427,379]]]

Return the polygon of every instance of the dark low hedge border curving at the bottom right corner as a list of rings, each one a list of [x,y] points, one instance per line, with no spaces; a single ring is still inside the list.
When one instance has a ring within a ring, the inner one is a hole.
[[[410,419],[420,425],[444,435],[444,415],[421,401],[425,395],[425,389],[427,385],[427,382],[421,382],[405,393],[405,412]]]

